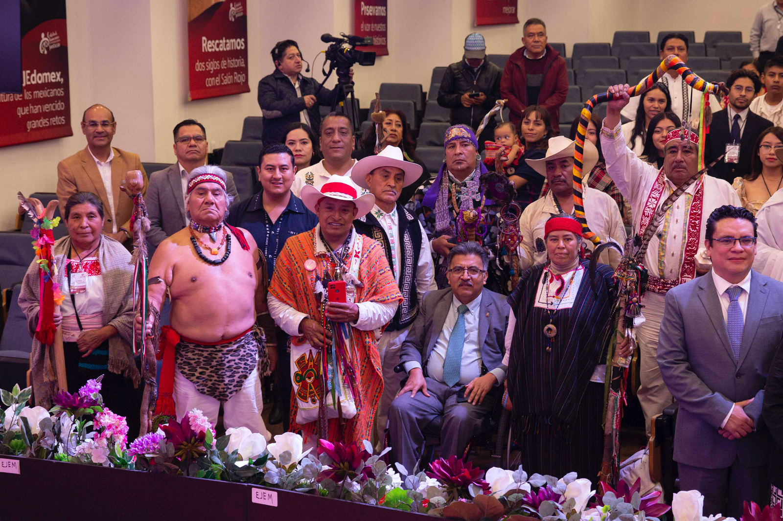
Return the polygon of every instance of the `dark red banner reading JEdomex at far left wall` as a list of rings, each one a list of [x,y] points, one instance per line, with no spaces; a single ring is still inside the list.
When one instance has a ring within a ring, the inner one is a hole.
[[[74,135],[65,0],[30,5],[21,11],[22,93],[0,93],[0,146]]]

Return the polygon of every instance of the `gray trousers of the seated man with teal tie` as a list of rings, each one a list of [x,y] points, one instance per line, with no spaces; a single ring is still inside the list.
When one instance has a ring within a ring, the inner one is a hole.
[[[391,402],[388,411],[392,452],[408,472],[413,472],[421,458],[424,429],[438,416],[442,416],[441,457],[461,457],[467,442],[481,433],[483,426],[489,422],[500,389],[496,386],[486,394],[481,404],[472,405],[456,402],[456,393],[461,386],[449,387],[429,376],[425,381],[430,397],[420,391],[415,397],[404,393]]]

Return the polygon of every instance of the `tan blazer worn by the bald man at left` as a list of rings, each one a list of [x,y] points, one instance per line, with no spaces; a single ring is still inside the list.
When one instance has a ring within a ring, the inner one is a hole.
[[[111,160],[111,194],[106,193],[106,185],[100,177],[98,165],[92,154],[85,147],[73,156],[66,157],[57,163],[57,199],[60,201],[60,214],[65,217],[65,203],[76,192],[92,192],[103,202],[103,210],[106,213],[106,222],[103,225],[103,233],[112,232],[111,216],[109,215],[109,197],[114,199],[114,214],[117,218],[117,230],[125,228],[130,230],[130,220],[133,213],[133,202],[125,192],[120,190],[120,184],[125,179],[125,173],[131,170],[142,171],[144,188],[146,193],[147,176],[139,154],[125,152],[121,149],[114,150],[114,159]]]

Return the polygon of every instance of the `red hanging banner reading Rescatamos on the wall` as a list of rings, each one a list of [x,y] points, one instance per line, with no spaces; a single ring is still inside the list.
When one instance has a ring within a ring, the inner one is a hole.
[[[188,0],[188,101],[250,92],[247,0]]]

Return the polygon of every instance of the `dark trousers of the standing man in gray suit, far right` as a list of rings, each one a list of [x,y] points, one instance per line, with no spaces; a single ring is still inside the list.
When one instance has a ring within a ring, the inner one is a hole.
[[[702,469],[678,463],[680,490],[698,490],[704,496],[704,516],[740,519],[743,501],[755,501],[761,508],[770,504],[767,465],[745,467],[734,458],[726,469]]]

